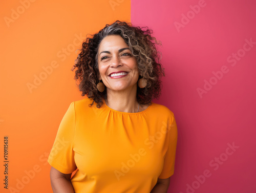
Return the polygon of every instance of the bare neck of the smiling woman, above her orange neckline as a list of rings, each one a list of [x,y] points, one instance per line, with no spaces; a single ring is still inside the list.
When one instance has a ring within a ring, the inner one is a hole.
[[[136,99],[137,85],[125,91],[106,90],[105,102],[111,109],[125,113],[136,113],[139,103]],[[138,111],[139,112],[139,111]]]

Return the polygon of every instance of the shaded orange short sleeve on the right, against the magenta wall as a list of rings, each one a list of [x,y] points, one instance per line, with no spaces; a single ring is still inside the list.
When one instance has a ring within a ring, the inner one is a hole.
[[[177,146],[177,124],[174,115],[170,116],[171,124],[168,126],[168,149],[164,158],[162,173],[158,178],[166,179],[174,174],[174,163]]]

